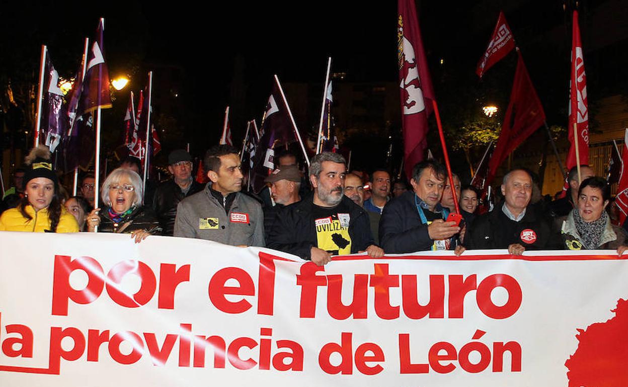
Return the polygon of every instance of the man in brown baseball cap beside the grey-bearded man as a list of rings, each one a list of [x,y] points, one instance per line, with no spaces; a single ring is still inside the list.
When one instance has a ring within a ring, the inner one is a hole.
[[[301,178],[303,173],[298,166],[285,165],[279,166],[264,179],[264,182],[271,184],[271,197],[274,201],[274,206],[264,206],[264,230],[271,230],[279,209],[301,201]],[[268,243],[268,232],[266,236]]]

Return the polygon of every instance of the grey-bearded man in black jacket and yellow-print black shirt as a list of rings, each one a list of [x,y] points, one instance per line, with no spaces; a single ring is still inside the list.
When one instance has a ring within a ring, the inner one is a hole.
[[[314,192],[279,212],[268,247],[311,260],[319,266],[332,255],[367,252],[382,257],[374,244],[366,211],[342,193],[347,163],[333,152],[322,152],[310,163]]]

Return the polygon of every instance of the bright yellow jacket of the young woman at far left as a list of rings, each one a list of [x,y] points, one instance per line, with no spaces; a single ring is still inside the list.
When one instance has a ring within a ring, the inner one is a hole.
[[[43,233],[50,230],[50,219],[48,218],[48,208],[35,212],[33,206],[26,206],[26,213],[31,216],[28,220],[22,216],[18,208],[10,208],[0,216],[0,231],[27,231]],[[77,233],[78,223],[74,216],[65,208],[61,208],[61,217],[57,225],[58,233]]]

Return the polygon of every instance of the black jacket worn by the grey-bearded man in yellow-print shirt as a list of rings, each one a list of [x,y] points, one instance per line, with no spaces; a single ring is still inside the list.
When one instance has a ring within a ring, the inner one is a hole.
[[[300,202],[279,210],[268,235],[267,247],[310,259],[311,248],[317,246],[315,219],[312,214],[313,198],[313,194],[309,194]],[[349,206],[351,253],[374,245],[366,210],[344,195],[342,203]]]

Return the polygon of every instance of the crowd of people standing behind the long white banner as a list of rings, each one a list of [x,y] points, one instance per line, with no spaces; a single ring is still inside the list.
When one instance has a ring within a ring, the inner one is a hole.
[[[45,147],[33,149],[5,194],[0,231],[126,233],[139,243],[151,235],[269,247],[325,265],[334,255],[474,249],[592,250],[628,248],[624,228],[609,215],[610,187],[588,166],[568,174],[565,198],[544,203],[533,174],[512,169],[502,179],[502,201],[479,214],[479,191],[436,161],[414,166],[409,185],[386,169],[347,171],[343,156],[322,152],[304,173],[297,157],[278,154],[266,188],[246,192],[237,149],[214,146],[203,159],[207,184],[192,178],[192,157],[168,156],[171,178],[156,185],[139,176],[129,158],[104,179],[96,200],[95,176],[68,197]],[[245,189],[243,189],[245,188]],[[145,192],[146,191],[146,192]],[[455,193],[455,195],[454,195]],[[462,221],[448,220],[457,211]]]

